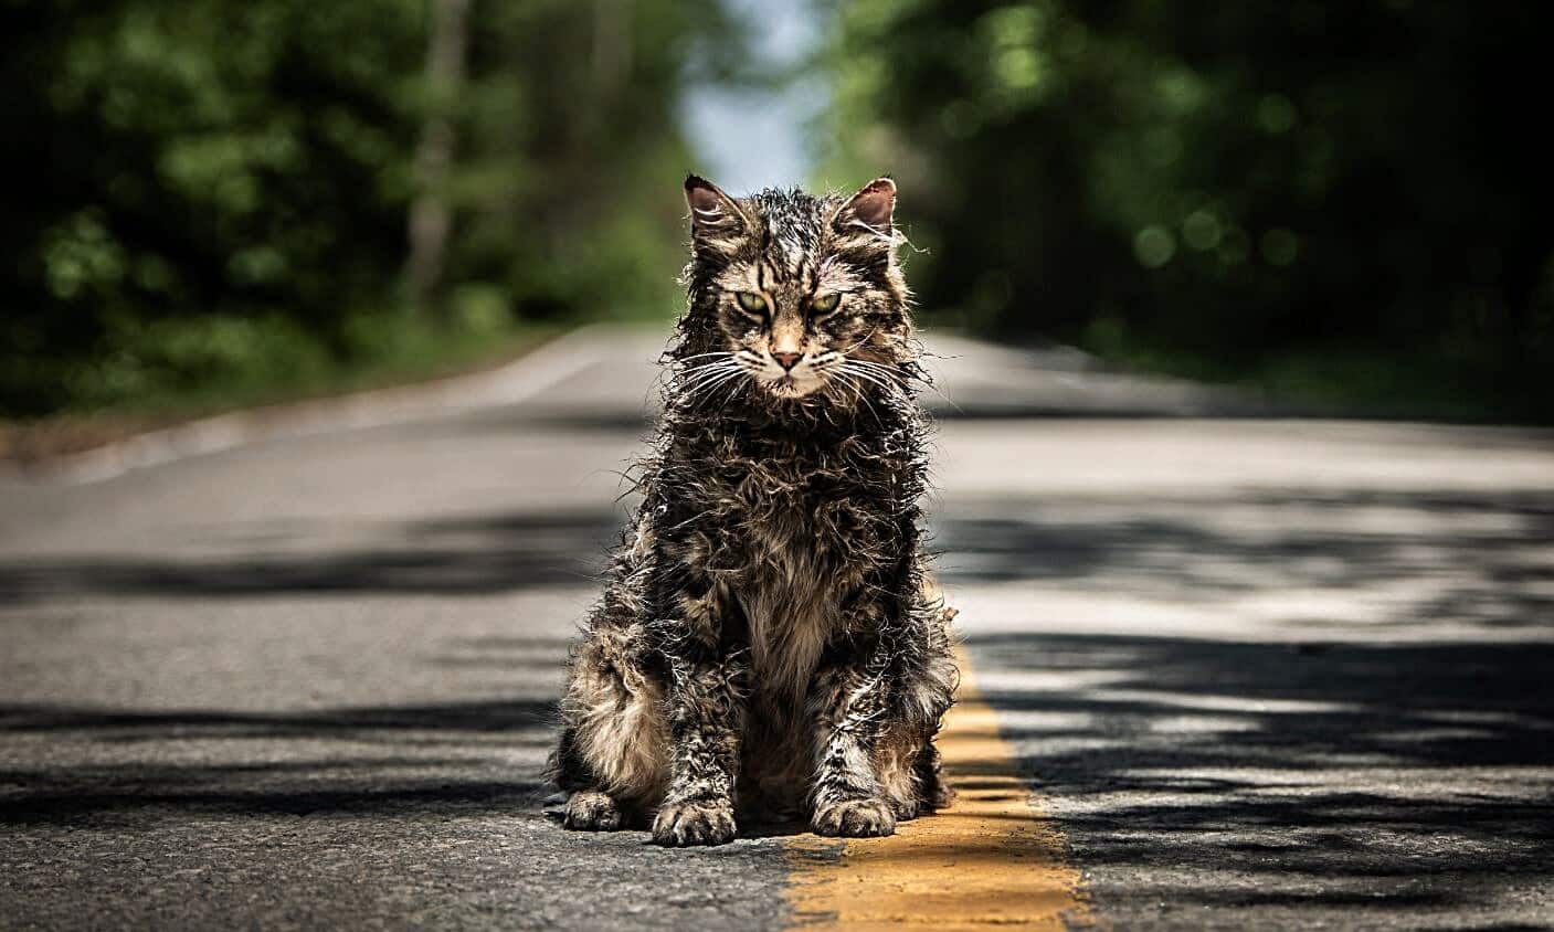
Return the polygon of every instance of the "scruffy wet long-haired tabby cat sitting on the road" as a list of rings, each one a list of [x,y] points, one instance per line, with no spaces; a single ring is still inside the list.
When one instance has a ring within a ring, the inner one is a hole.
[[[720,845],[805,812],[887,836],[948,802],[934,736],[959,674],[922,548],[895,194],[685,180],[664,415],[550,758],[567,828]]]

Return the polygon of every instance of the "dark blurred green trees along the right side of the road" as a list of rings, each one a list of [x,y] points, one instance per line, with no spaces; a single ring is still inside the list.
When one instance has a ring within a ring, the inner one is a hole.
[[[929,314],[1207,374],[1352,357],[1377,396],[1548,413],[1545,5],[861,0],[836,22],[827,174],[897,172]]]

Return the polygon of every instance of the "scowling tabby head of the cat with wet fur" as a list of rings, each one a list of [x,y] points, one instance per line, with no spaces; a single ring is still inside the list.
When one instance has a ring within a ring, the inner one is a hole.
[[[909,373],[895,182],[852,196],[768,188],[730,197],[690,176],[690,309],[676,356],[688,390],[747,384],[768,399],[856,399]],[[741,377],[743,376],[743,377]]]

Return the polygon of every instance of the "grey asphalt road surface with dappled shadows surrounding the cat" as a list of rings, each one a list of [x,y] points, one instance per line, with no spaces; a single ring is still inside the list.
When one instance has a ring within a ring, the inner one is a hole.
[[[572,834],[541,783],[660,342],[0,480],[0,927],[845,915],[794,895],[834,845]],[[1554,924],[1554,433],[934,346],[940,576],[996,719],[965,747],[1051,817],[1030,870],[1082,879],[1049,924]]]

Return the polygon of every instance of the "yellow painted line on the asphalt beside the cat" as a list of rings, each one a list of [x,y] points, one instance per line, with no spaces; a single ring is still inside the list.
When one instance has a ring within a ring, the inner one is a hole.
[[[793,926],[1063,929],[1094,921],[1078,870],[1064,859],[1063,833],[1019,778],[965,654],[960,671],[939,735],[956,802],[886,839],[786,840]]]

